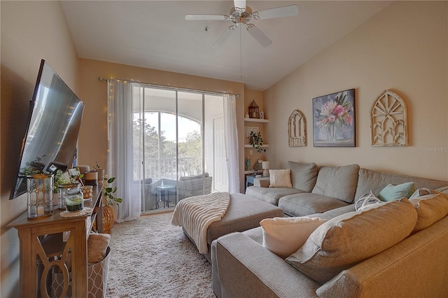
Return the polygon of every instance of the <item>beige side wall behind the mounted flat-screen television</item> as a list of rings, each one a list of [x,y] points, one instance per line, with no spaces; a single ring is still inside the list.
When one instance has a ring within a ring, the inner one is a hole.
[[[29,101],[45,59],[76,92],[78,55],[59,1],[1,1],[1,297],[18,293],[17,231],[6,225],[26,211],[26,196],[9,200],[25,134]]]

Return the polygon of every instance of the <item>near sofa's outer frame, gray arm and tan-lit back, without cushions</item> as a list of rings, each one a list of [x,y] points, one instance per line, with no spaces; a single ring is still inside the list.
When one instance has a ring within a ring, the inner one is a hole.
[[[219,298],[448,297],[448,216],[323,285],[265,249],[261,233],[232,233],[212,244]]]

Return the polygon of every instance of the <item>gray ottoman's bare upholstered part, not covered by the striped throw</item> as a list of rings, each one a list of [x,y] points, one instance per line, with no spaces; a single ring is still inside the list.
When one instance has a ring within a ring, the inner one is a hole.
[[[230,204],[227,212],[221,220],[211,223],[207,229],[207,246],[209,249],[204,257],[211,264],[212,241],[225,234],[244,232],[247,229],[260,227],[260,221],[265,218],[283,218],[283,210],[272,204],[246,196],[246,194],[230,194]],[[183,233],[190,238],[185,229],[183,229]]]

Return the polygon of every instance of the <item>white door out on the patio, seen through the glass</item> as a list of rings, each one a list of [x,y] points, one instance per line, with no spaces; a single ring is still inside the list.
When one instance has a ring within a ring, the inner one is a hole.
[[[229,191],[227,157],[225,155],[224,118],[214,118],[214,190]]]

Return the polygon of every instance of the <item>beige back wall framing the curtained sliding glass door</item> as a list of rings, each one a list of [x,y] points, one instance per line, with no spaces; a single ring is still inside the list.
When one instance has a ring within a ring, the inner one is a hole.
[[[154,69],[113,64],[90,59],[79,59],[79,94],[85,103],[83,122],[79,135],[78,164],[93,165],[98,161],[106,167],[107,156],[107,83],[98,78],[124,78],[143,83],[169,85],[213,92],[241,94],[237,97],[237,115],[244,115],[244,85],[225,80],[188,76]],[[237,123],[239,132],[244,132],[243,118]],[[244,134],[239,134],[244,143]],[[240,189],[244,190],[244,148],[239,148]]]

